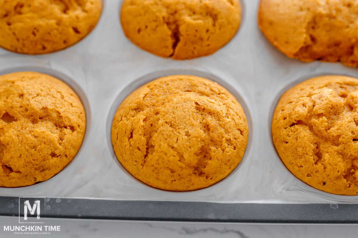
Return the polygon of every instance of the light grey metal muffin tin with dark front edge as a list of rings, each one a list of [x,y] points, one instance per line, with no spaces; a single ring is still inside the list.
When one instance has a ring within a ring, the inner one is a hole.
[[[145,52],[124,36],[122,1],[106,0],[96,28],[52,54],[29,56],[0,49],[0,74],[39,71],[68,83],[86,110],[80,151],[48,181],[0,188],[0,215],[18,216],[18,197],[46,197],[47,217],[155,221],[358,223],[358,196],[319,191],[292,175],[271,140],[280,95],[318,75],[357,77],[342,64],[303,63],[276,50],[257,26],[258,0],[243,0],[240,30],[213,55],[175,61]],[[151,188],[132,177],[114,155],[110,130],[121,101],[160,76],[191,74],[217,81],[240,102],[249,142],[239,166],[221,182],[191,192]],[[43,216],[42,215],[42,216]]]

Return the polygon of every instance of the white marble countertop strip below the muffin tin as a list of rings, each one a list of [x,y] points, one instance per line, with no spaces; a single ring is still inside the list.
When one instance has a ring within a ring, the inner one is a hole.
[[[4,231],[4,226],[17,226],[17,217],[0,217],[0,237],[193,237],[193,238],[293,238],[293,237],[357,237],[356,225],[282,225],[282,224],[217,224],[179,222],[124,222],[83,219],[45,219],[46,226],[61,226],[61,231],[30,235]],[[21,225],[21,224],[20,224]]]

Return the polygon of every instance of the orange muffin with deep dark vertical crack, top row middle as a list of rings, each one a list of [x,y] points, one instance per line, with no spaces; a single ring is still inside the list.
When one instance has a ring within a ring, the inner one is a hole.
[[[124,0],[124,34],[143,50],[176,60],[213,54],[236,34],[238,0]]]

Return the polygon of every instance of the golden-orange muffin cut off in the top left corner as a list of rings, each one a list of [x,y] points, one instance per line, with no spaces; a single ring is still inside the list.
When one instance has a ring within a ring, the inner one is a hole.
[[[96,26],[101,0],[0,1],[0,46],[23,54],[62,50]]]

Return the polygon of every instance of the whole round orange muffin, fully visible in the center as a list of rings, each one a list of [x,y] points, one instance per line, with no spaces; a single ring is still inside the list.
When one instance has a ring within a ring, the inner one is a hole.
[[[223,87],[188,75],[138,88],[112,124],[118,160],[134,177],[168,191],[219,182],[240,163],[248,141],[241,105]]]

